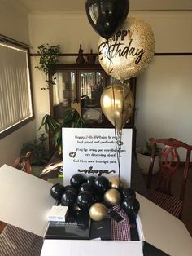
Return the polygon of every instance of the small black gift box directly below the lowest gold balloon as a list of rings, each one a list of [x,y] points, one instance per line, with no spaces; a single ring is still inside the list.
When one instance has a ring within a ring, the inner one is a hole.
[[[90,239],[101,238],[111,240],[111,220],[104,218],[101,221],[92,221],[90,227]]]

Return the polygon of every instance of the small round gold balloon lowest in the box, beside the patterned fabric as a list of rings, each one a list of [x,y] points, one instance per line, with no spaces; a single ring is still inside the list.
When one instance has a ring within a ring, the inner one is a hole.
[[[103,218],[107,218],[107,207],[100,203],[95,203],[89,209],[90,218],[94,221],[102,220]]]

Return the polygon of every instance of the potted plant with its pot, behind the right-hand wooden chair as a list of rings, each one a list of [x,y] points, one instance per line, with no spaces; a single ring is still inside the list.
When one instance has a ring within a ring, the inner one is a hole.
[[[159,162],[158,162],[158,156],[161,148],[156,147],[155,148],[155,161],[153,166],[153,172],[152,174],[156,174],[159,171]],[[136,148],[136,155],[137,155],[137,163],[140,167],[140,170],[142,171],[142,174],[148,174],[150,161],[151,161],[151,143],[148,143],[146,141],[145,146]]]

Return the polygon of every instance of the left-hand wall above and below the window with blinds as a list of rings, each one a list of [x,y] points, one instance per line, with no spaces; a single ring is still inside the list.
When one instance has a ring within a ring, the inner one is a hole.
[[[0,0],[0,33],[28,43],[28,13],[15,1]],[[12,165],[20,156],[23,143],[35,138],[35,121],[31,121],[11,135],[0,140],[0,166]]]

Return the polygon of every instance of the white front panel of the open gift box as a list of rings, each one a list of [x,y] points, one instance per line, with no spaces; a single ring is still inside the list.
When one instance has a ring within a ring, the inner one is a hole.
[[[142,256],[142,242],[46,239],[41,256]]]

